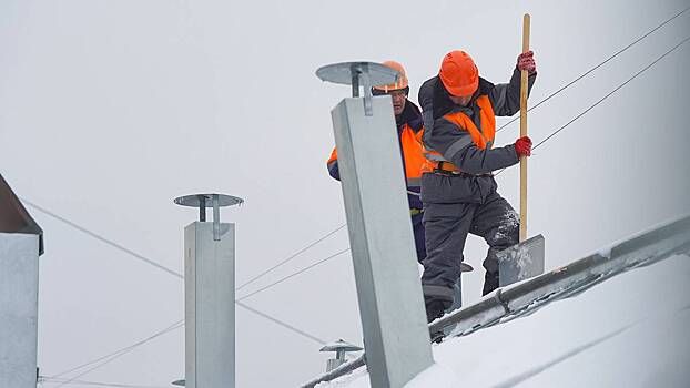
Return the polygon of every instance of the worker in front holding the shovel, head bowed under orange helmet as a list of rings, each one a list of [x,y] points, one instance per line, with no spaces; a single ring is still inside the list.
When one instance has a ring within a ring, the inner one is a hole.
[[[518,57],[510,81],[493,84],[464,51],[446,54],[437,76],[419,89],[425,133],[422,202],[427,257],[422,286],[429,321],[453,304],[467,234],[484,237],[489,251],[483,294],[498,287],[496,253],[518,243],[519,217],[497,190],[493,172],[529,156],[531,141],[494,146],[496,115],[520,110],[520,71],[528,90],[537,76],[531,51]]]

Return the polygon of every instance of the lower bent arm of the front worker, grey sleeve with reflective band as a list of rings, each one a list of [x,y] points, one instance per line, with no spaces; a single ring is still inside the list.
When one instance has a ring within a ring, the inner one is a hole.
[[[481,150],[469,133],[444,118],[434,121],[433,131],[425,131],[424,144],[468,174],[488,174],[519,162],[514,144]]]

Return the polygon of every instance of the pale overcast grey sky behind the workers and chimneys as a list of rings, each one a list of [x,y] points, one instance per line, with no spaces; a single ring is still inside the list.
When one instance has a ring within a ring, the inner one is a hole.
[[[0,171],[23,198],[183,272],[196,214],[172,198],[246,200],[237,284],[345,222],[326,172],[329,110],[348,94],[314,71],[397,60],[410,98],[443,55],[468,51],[506,82],[532,16],[539,101],[690,6],[668,1],[11,1],[0,2]],[[690,12],[529,116],[538,142],[690,34]],[[535,152],[529,234],[547,269],[690,212],[690,43],[659,61]],[[503,124],[507,119],[498,120]],[[511,143],[518,125],[497,135]],[[514,205],[517,169],[498,177]],[[39,365],[53,375],[183,317],[183,283],[29,207],[45,233]],[[239,296],[347,247],[346,231]],[[480,268],[486,246],[470,238]],[[465,278],[479,298],[484,273]],[[351,258],[341,255],[245,300],[324,340],[361,344]],[[322,372],[319,345],[237,308],[237,386],[291,387]],[[478,351],[480,351],[478,349]],[[166,386],[184,372],[183,330],[82,379]],[[54,384],[45,384],[53,387]],[[69,387],[65,386],[65,387]]]

